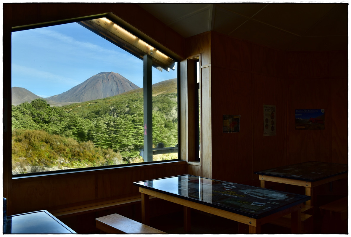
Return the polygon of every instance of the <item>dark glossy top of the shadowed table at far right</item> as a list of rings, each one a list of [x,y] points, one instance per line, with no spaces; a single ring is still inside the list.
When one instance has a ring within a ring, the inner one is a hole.
[[[304,181],[317,181],[332,176],[347,173],[345,164],[309,161],[299,164],[286,165],[273,169],[255,171],[258,175],[268,175]]]

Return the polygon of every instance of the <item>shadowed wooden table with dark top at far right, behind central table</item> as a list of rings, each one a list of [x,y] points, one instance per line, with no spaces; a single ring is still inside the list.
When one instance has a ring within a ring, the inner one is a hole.
[[[345,164],[310,161],[254,173],[259,175],[261,187],[265,187],[265,181],[305,187],[305,195],[311,196],[306,205],[313,206],[313,187],[347,178],[347,170]]]

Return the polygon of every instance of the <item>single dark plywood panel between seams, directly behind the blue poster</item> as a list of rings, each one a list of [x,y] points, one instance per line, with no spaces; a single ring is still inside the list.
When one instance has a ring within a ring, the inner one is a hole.
[[[292,57],[290,57],[292,55]],[[327,77],[327,53],[289,54],[289,164],[309,160],[331,162],[332,98]],[[292,60],[293,59],[293,60]],[[313,61],[313,67],[309,60]],[[307,60],[307,61],[306,61]],[[306,65],[304,65],[306,64]],[[318,66],[317,66],[318,65]],[[318,72],[320,70],[320,72]],[[325,109],[324,130],[296,130],[296,109]]]

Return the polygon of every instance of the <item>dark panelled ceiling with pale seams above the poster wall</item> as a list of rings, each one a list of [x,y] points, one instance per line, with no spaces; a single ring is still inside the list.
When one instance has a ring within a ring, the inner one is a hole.
[[[346,3],[139,5],[185,38],[215,31],[287,51],[348,47]]]

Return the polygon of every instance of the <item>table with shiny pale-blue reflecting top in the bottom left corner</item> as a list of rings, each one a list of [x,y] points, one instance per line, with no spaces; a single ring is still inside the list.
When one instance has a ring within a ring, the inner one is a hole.
[[[5,231],[5,230],[4,230]],[[73,234],[74,230],[46,210],[6,218],[7,234]]]

